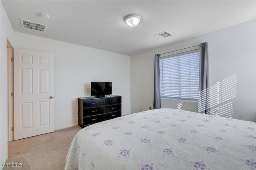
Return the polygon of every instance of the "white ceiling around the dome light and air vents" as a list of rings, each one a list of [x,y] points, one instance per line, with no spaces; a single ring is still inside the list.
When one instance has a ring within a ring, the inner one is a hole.
[[[256,18],[255,0],[1,1],[16,32],[126,55]],[[41,18],[40,13],[49,14],[50,20]],[[124,22],[124,17],[133,13],[142,16],[134,28]],[[20,18],[47,25],[46,32],[22,28]],[[165,30],[172,36],[154,37]]]

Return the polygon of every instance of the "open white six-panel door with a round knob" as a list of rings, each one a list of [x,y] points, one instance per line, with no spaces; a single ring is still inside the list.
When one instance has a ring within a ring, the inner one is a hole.
[[[14,140],[54,132],[54,55],[14,49]]]

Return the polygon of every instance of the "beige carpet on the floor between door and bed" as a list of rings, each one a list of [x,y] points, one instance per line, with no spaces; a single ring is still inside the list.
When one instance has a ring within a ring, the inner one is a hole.
[[[4,170],[64,170],[65,158],[76,132],[74,126],[55,132],[8,142],[6,163],[22,163],[22,168],[5,167]]]

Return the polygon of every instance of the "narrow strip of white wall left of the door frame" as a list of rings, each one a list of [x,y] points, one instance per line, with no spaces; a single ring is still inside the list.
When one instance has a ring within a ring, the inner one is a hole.
[[[8,117],[7,117],[7,51],[6,38],[13,42],[13,29],[6,11],[0,2],[0,163],[8,157]],[[2,166],[0,166],[2,169]]]

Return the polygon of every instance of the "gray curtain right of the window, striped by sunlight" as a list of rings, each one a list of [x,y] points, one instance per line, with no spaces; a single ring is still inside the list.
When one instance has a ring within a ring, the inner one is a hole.
[[[198,113],[210,114],[208,43],[200,44]]]

